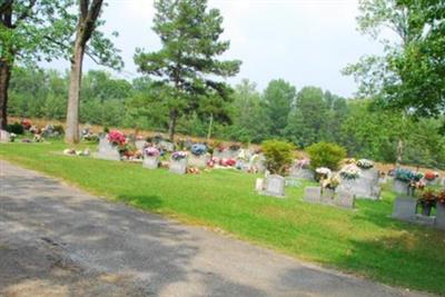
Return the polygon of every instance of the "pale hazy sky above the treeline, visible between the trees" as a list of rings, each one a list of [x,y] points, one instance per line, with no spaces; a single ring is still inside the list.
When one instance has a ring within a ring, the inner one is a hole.
[[[134,63],[136,48],[156,51],[160,41],[151,31],[152,0],[108,0],[105,32],[118,31],[125,69],[115,76],[140,76]],[[363,55],[380,53],[382,46],[357,30],[358,0],[209,0],[224,17],[222,39],[230,40],[225,59],[243,61],[239,73],[227,81],[247,78],[258,90],[273,79],[285,79],[297,90],[316,86],[352,97],[357,89],[340,70]],[[68,68],[67,61],[51,65]],[[99,69],[86,58],[85,69]]]

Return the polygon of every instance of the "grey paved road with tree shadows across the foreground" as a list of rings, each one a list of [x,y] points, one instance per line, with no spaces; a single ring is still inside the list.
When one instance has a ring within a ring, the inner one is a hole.
[[[0,161],[0,296],[422,296]]]

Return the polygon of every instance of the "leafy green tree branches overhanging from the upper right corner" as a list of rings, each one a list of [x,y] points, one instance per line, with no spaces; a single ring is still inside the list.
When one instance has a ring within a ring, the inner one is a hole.
[[[368,56],[345,69],[363,96],[384,107],[431,117],[445,111],[445,7],[442,1],[360,0],[363,33],[378,38],[390,29],[399,41],[385,44],[382,57]]]

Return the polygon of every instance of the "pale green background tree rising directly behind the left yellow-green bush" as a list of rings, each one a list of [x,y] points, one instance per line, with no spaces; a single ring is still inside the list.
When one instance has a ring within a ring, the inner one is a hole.
[[[270,122],[270,135],[283,137],[296,89],[283,79],[271,80],[264,92],[266,112]]]

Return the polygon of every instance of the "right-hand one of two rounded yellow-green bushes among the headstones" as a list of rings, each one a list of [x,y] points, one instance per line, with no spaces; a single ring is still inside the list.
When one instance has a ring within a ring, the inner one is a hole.
[[[340,161],[346,158],[345,148],[328,142],[312,145],[306,151],[310,156],[310,167],[313,169],[327,167],[332,170],[337,170]]]

